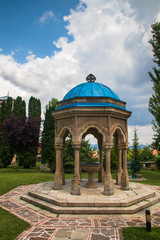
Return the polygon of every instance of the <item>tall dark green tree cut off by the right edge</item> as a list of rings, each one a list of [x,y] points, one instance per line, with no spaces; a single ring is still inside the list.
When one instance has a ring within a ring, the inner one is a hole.
[[[160,22],[152,24],[153,38],[149,43],[152,45],[153,61],[157,64],[157,67],[153,68],[153,74],[149,72],[149,76],[153,83],[152,97],[149,100],[149,111],[154,117],[153,130],[154,135],[154,147],[160,150]]]

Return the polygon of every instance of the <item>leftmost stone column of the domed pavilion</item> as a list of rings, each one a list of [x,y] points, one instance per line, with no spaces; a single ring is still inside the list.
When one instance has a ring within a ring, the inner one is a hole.
[[[63,184],[63,173],[62,173],[62,156],[63,156],[63,146],[56,146],[56,172],[54,176],[54,186],[53,189],[62,189]]]

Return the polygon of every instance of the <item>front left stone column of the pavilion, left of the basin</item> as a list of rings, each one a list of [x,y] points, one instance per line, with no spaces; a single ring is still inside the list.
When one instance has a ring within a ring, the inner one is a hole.
[[[72,195],[81,195],[80,193],[80,174],[79,174],[79,165],[80,165],[80,144],[72,145],[74,148],[74,178],[72,179],[71,194]]]

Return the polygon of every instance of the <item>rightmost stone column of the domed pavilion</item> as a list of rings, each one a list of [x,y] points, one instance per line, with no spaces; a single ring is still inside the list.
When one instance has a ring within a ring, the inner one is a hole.
[[[121,189],[129,189],[128,171],[127,171],[127,148],[123,149],[123,172],[121,177]]]

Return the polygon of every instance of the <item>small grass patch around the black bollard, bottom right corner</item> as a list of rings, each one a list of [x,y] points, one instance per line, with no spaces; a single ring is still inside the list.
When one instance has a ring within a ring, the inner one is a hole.
[[[122,229],[124,240],[160,240],[160,228],[154,227],[151,232],[147,232],[146,228],[128,227]]]

